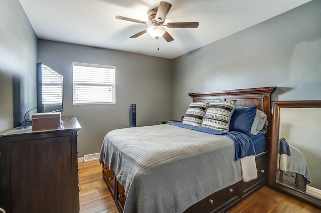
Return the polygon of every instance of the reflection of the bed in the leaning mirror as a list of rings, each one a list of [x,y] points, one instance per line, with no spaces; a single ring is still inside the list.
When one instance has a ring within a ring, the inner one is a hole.
[[[278,142],[277,182],[305,192],[311,178],[303,153],[288,144],[285,138]]]

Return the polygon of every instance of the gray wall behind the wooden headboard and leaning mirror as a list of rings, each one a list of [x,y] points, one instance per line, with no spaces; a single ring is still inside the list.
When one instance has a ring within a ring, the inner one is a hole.
[[[191,92],[277,86],[273,100],[321,99],[320,59],[321,1],[314,0],[176,58],[174,119]]]

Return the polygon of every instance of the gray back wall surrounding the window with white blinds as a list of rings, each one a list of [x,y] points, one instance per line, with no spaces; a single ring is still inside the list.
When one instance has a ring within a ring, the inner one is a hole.
[[[38,62],[64,77],[63,116],[75,115],[79,157],[100,152],[107,132],[129,126],[130,104],[137,105],[137,126],[172,119],[173,60],[115,50],[38,40]],[[116,104],[73,105],[72,63],[116,66]]]

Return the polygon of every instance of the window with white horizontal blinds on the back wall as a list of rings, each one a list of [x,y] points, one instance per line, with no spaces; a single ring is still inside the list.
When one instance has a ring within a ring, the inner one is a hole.
[[[115,66],[72,63],[73,103],[116,103]]]

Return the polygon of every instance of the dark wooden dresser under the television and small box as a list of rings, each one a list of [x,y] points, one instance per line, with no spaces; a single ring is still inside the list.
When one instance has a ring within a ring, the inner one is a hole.
[[[18,127],[0,135],[0,208],[12,212],[79,212],[74,116],[57,130]]]

